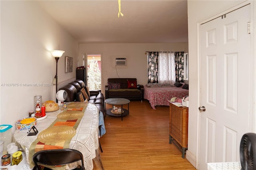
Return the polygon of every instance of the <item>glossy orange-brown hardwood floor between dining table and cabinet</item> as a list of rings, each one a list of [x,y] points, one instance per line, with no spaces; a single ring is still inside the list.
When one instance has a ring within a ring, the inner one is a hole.
[[[106,108],[112,105],[106,104]],[[127,105],[124,105],[127,109]],[[169,107],[152,109],[147,100],[131,101],[123,118],[106,115],[100,138],[105,170],[195,170],[174,144],[169,144]]]

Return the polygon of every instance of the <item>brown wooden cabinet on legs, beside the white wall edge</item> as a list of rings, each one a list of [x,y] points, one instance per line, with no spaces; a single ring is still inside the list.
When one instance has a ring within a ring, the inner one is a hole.
[[[170,103],[169,143],[174,143],[182,151],[182,158],[185,158],[188,150],[188,107],[178,107]]]

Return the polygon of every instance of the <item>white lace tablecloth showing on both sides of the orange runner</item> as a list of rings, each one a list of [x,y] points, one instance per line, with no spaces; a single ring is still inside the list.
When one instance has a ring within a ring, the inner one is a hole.
[[[42,130],[48,128],[52,122],[55,121],[57,115],[61,112],[61,110],[47,112],[46,119],[37,121],[35,127],[38,130],[38,134],[42,132]],[[96,149],[99,147],[98,126],[98,108],[95,105],[88,103],[84,116],[76,129],[76,134],[70,142],[70,148],[82,152],[86,170],[93,169],[92,159],[96,157]],[[37,138],[38,135],[27,136],[27,132],[28,130],[16,130],[14,133],[14,141],[24,149],[26,152],[26,158],[28,159],[30,144]]]

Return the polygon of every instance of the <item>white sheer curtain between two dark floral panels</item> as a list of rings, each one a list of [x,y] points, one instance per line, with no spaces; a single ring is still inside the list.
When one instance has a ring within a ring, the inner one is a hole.
[[[158,83],[175,83],[174,52],[160,52],[158,57]]]

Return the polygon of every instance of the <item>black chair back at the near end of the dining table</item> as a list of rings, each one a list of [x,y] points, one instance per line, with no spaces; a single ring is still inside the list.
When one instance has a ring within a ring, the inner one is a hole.
[[[41,150],[33,155],[33,162],[35,164],[33,170],[40,170],[40,166],[55,166],[55,165],[67,165],[81,160],[81,170],[84,170],[84,158],[83,154],[74,149],[52,149]]]

